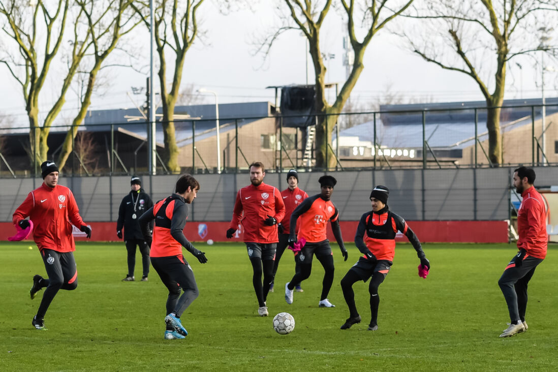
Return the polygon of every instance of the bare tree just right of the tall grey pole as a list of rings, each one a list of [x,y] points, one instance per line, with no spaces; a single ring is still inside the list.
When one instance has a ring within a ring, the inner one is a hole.
[[[180,172],[178,164],[178,146],[174,125],[174,109],[180,97],[180,84],[186,53],[198,37],[198,12],[204,0],[157,0],[155,7],[155,44],[159,56],[159,70],[157,72],[161,87],[163,141],[165,143],[165,161],[169,171]],[[137,6],[137,11],[145,17],[148,23],[148,3]],[[174,54],[174,71],[170,89],[167,88],[167,56]]]

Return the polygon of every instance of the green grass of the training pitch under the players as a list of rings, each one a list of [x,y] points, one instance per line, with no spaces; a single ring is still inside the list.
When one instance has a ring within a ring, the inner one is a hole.
[[[419,278],[419,259],[400,244],[395,264],[379,289],[379,330],[367,331],[368,286],[355,283],[363,322],[339,327],[348,316],[339,285],[357,260],[349,245],[343,262],[333,247],[336,273],[329,299],[335,308],[319,308],[323,269],[315,260],[312,276],[287,305],[282,287],[294,272],[290,251],[283,256],[270,317],[257,316],[252,270],[241,244],[198,244],[209,262],[201,265],[185,253],[200,296],[182,316],[185,340],[163,340],[166,288],[151,271],[149,282],[123,283],[124,244],[80,243],[75,252],[79,286],[60,291],[45,317],[48,331],[37,331],[31,318],[40,296],[31,301],[33,274],[45,269],[35,246],[0,243],[1,371],[79,370],[556,370],[558,326],[556,247],[537,268],[527,309],[529,330],[508,339],[498,335],[509,321],[497,281],[515,252],[513,245],[425,244],[432,263]],[[138,253],[136,277],[141,276]],[[287,311],[296,320],[287,336],[272,328],[272,316]]]

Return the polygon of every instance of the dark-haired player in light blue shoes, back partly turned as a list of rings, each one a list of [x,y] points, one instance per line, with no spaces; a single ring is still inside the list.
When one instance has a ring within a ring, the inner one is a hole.
[[[200,263],[208,262],[205,253],[196,249],[184,236],[188,206],[196,199],[200,184],[190,175],[176,181],[175,194],[156,202],[140,217],[140,226],[151,245],[151,264],[161,281],[169,289],[166,303],[165,339],[184,339],[188,335],[180,316],[199,295],[198,285],[190,264],[182,255],[182,247]],[[148,224],[155,219],[153,236]],[[151,241],[152,240],[152,241]],[[180,296],[180,290],[184,291]]]

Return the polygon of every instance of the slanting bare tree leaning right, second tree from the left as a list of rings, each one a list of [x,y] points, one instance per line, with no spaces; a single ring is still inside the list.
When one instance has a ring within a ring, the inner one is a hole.
[[[72,151],[78,127],[83,123],[95,88],[95,81],[105,60],[116,49],[122,36],[131,32],[142,22],[132,7],[132,0],[76,0],[80,12],[86,20],[90,35],[91,52],[83,66],[87,71],[88,80],[85,92],[81,96],[78,114],[73,119],[71,128],[66,134],[58,166],[64,167]]]

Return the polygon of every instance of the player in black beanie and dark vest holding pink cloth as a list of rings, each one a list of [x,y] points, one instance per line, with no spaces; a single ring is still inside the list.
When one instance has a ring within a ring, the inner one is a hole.
[[[419,239],[405,220],[389,210],[387,198],[389,189],[386,186],[374,187],[370,194],[372,211],[366,212],[360,218],[357,233],[354,236],[354,244],[364,255],[360,257],[341,279],[343,297],[349,307],[349,318],[341,326],[342,330],[350,328],[353,324],[360,323],[360,315],[354,303],[353,284],[358,281],[366,282],[372,277],[368,285],[370,293],[371,320],[369,331],[378,329],[378,306],[380,297],[378,287],[387,276],[389,268],[393,264],[395,255],[395,235],[401,231],[413,245],[420,258],[423,269],[430,270],[430,262],[422,251]]]

